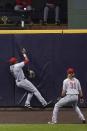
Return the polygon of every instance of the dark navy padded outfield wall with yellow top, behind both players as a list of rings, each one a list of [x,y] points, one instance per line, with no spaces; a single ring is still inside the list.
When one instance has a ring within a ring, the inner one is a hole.
[[[27,68],[35,71],[36,77],[30,80],[47,101],[60,96],[66,69],[74,67],[84,93],[85,104],[82,106],[87,106],[87,30],[0,30],[1,107],[24,105],[26,96],[20,105],[18,103],[25,90],[16,87],[8,63],[12,56],[23,60],[22,47],[30,58],[24,71],[26,73]],[[31,104],[40,106],[35,98]]]

